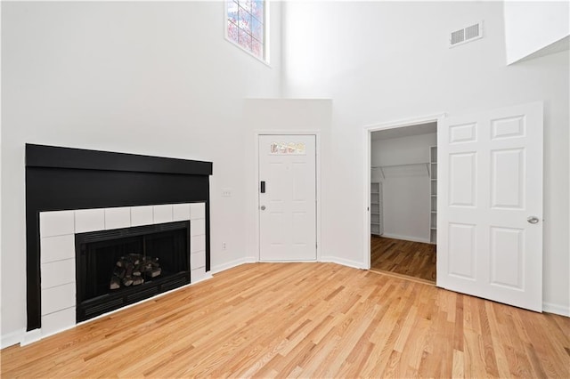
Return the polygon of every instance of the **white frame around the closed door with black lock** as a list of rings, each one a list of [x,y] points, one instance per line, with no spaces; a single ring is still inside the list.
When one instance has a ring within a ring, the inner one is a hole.
[[[261,245],[259,244],[259,136],[260,135],[314,135],[315,141],[315,186],[316,186],[316,225],[315,233],[317,241],[317,259],[316,262],[321,262],[321,133],[319,131],[263,131],[258,130],[254,132],[255,141],[255,177],[256,177],[256,262],[261,262]],[[293,261],[283,261],[283,262],[293,262]],[[303,261],[307,262],[307,261]],[[310,262],[310,261],[308,261]]]

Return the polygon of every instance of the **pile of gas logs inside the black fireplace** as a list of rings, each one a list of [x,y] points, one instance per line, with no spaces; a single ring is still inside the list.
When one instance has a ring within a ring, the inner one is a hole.
[[[110,289],[118,289],[121,286],[139,286],[144,283],[144,278],[156,278],[160,275],[159,258],[143,256],[142,254],[128,254],[121,256],[113,269],[110,278]]]

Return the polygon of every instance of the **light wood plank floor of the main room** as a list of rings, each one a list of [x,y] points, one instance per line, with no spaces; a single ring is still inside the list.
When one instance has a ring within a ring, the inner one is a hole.
[[[254,263],[1,351],[2,377],[570,376],[570,319],[334,263]]]

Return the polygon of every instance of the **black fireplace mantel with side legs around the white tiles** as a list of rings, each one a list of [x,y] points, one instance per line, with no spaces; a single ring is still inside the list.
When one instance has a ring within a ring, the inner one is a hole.
[[[211,174],[211,162],[26,144],[27,330],[41,327],[40,212],[205,202],[208,271]]]

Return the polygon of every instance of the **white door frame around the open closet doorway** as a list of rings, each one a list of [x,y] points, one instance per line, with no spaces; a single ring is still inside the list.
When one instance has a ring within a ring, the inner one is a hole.
[[[405,126],[413,126],[420,124],[428,124],[436,122],[439,123],[445,117],[445,113],[436,113],[433,115],[422,116],[422,117],[412,117],[404,118],[395,121],[388,121],[380,124],[365,125],[364,126],[364,206],[362,207],[362,222],[364,225],[363,238],[363,257],[362,262],[364,263],[364,270],[371,270],[371,152],[372,152],[372,132],[378,132],[380,130],[395,129]]]

